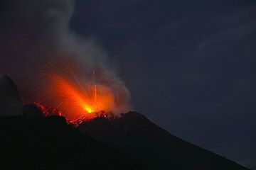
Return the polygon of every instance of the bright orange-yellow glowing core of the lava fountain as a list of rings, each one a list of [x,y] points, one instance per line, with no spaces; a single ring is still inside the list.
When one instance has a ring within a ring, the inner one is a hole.
[[[114,106],[114,96],[107,86],[70,81],[58,74],[46,74],[48,84],[41,103],[57,108],[71,123],[90,120],[102,113],[109,113]]]

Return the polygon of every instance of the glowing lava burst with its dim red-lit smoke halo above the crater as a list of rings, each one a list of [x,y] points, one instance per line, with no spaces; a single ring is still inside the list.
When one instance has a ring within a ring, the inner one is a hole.
[[[96,117],[118,117],[127,111],[128,93],[122,81],[112,79],[102,68],[78,68],[79,74],[75,74],[63,62],[43,65],[30,91],[33,96],[25,103],[36,105],[46,116],[62,115],[75,124]]]

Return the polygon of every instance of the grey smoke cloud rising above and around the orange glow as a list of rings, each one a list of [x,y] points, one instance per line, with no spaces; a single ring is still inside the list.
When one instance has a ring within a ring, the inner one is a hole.
[[[38,66],[58,60],[79,68],[80,78],[97,69],[100,83],[114,94],[116,112],[127,111],[129,91],[108,62],[107,52],[95,40],[70,30],[75,1],[11,0],[0,6],[0,72],[14,79],[23,94],[33,98]]]

